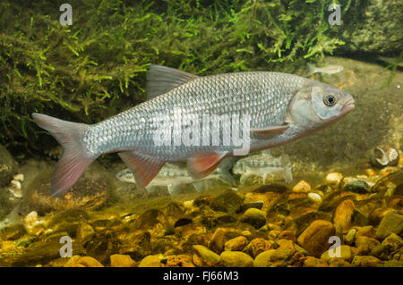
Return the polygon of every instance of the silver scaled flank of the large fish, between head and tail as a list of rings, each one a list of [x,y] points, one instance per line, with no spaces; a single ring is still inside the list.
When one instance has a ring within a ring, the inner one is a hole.
[[[304,79],[278,72],[237,72],[196,78],[124,113],[92,125],[83,140],[91,154],[136,149],[148,155],[162,155],[172,159],[185,157],[210,146],[153,146],[158,126],[153,118],[161,114],[174,115],[178,108],[182,115],[253,113],[251,128],[281,123],[290,97],[304,83]],[[197,106],[195,106],[197,104]],[[200,119],[199,130],[202,129]],[[240,128],[242,124],[240,123]],[[182,124],[182,130],[185,125]],[[220,137],[222,137],[222,128]],[[241,132],[242,133],[242,132]],[[106,139],[107,138],[107,139]],[[220,147],[229,150],[231,145]]]

